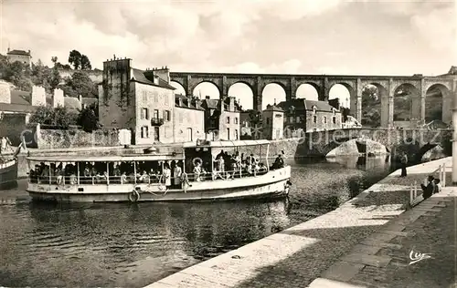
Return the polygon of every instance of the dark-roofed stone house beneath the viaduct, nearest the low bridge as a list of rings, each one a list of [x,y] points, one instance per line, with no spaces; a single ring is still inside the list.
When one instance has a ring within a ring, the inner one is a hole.
[[[277,105],[284,110],[286,137],[302,137],[303,132],[334,130],[342,128],[339,109],[325,101],[295,98]]]

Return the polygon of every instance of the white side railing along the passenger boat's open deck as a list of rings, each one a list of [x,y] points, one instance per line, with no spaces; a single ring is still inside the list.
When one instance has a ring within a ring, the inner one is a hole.
[[[239,179],[239,178],[250,178],[268,173],[268,170],[215,170],[213,172],[201,172],[201,173],[183,173],[179,177],[180,182],[189,181],[216,181],[216,180],[228,180],[228,179]],[[186,179],[185,179],[186,175]],[[173,175],[170,177],[171,183],[175,182]],[[48,184],[48,185],[96,185],[96,184],[165,184],[165,177],[163,174],[153,175],[142,175],[138,174],[136,177],[133,174],[130,175],[95,175],[95,176],[83,176],[83,175],[28,175],[28,181],[30,183],[37,184]]]

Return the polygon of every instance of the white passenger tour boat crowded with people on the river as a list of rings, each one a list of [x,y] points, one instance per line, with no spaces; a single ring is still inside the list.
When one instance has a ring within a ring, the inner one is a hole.
[[[27,191],[33,200],[77,202],[284,198],[292,185],[291,167],[275,162],[270,168],[269,147],[268,140],[197,140],[171,153],[144,149],[119,156],[28,157],[29,167],[35,169],[28,175]],[[215,163],[218,154],[224,158],[222,150],[244,151],[260,160],[257,166],[235,164],[233,170],[222,169],[221,160]]]

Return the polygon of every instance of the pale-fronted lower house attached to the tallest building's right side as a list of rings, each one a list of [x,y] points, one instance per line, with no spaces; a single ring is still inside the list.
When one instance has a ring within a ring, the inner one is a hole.
[[[175,142],[205,139],[205,109],[200,99],[175,95],[173,113]]]

